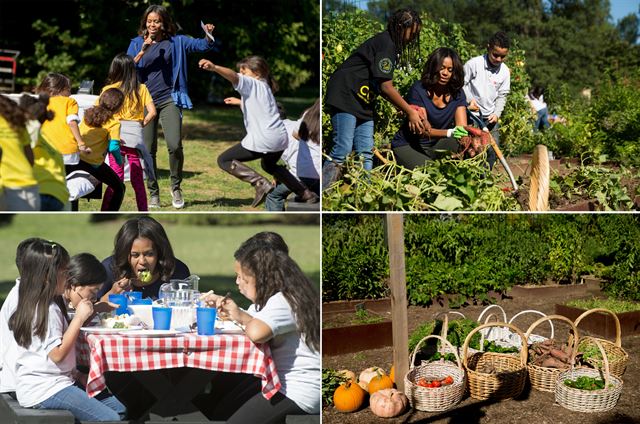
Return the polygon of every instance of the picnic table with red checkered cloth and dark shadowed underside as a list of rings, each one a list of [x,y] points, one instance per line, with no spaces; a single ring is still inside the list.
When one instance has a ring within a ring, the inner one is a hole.
[[[97,395],[109,385],[128,409],[136,409],[130,406],[139,409],[139,404],[134,405],[141,402],[139,390],[129,399],[121,398],[119,391],[122,391],[111,387],[110,381],[119,385],[123,381],[141,385],[153,399],[135,415],[148,414],[152,419],[158,416],[174,421],[207,421],[205,411],[193,400],[207,385],[215,384],[221,373],[258,377],[266,399],[275,395],[281,386],[269,345],[255,344],[244,334],[199,336],[179,333],[169,337],[136,337],[130,332],[83,332],[78,339],[77,361],[88,367],[86,389],[89,396]],[[116,378],[110,379],[114,374]],[[247,385],[249,380],[246,380]],[[232,389],[215,387],[221,396]]]

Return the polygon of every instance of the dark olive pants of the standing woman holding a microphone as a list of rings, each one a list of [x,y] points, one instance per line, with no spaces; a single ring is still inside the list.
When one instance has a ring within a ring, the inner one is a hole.
[[[153,158],[153,173],[155,180],[149,178],[147,187],[151,196],[159,196],[158,187],[158,164],[156,154],[158,153],[158,122],[162,125],[164,139],[167,142],[169,151],[169,170],[171,172],[171,191],[180,188],[182,184],[182,167],[184,166],[184,153],[182,151],[182,111],[169,99],[156,105],[158,115],[146,127],[144,127],[144,144]]]

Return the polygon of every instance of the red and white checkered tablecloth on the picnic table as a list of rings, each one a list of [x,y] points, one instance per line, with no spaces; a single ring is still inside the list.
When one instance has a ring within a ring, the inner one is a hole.
[[[262,394],[267,399],[280,389],[269,345],[255,344],[244,334],[129,337],[82,333],[78,338],[77,360],[89,366],[87,394],[91,397],[106,388],[107,371],[178,367],[256,375],[262,379]]]

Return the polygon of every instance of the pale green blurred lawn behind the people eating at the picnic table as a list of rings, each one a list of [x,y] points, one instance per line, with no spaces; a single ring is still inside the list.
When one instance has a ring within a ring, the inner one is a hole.
[[[295,215],[291,214],[292,223]],[[163,222],[163,214],[153,217]],[[164,214],[164,217],[175,218],[175,214]],[[101,223],[90,222],[90,218],[91,214],[18,214],[11,224],[0,226],[0,301],[4,301],[18,276],[15,249],[25,238],[56,241],[71,255],[89,252],[100,260],[109,256],[113,239],[126,217]],[[225,225],[163,222],[176,257],[187,264],[192,274],[201,277],[200,291],[231,292],[234,300],[248,305],[235,285],[233,253],[244,240],[259,231],[275,231],[282,235],[289,245],[291,257],[320,287],[320,228],[317,225],[246,225],[246,214],[224,218]]]

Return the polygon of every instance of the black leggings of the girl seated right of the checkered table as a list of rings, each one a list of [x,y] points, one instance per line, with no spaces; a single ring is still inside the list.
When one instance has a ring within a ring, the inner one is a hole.
[[[284,423],[287,415],[306,415],[306,412],[280,392],[269,400],[265,399],[262,393],[258,393],[242,405],[229,418],[227,424]]]

